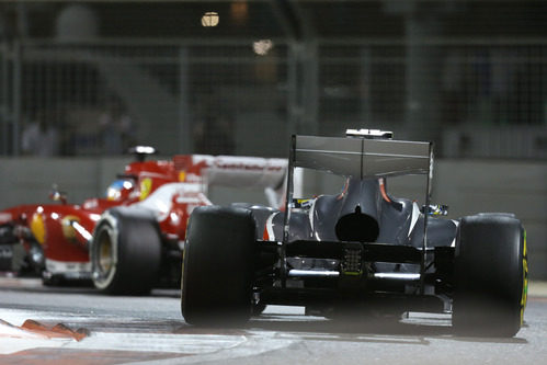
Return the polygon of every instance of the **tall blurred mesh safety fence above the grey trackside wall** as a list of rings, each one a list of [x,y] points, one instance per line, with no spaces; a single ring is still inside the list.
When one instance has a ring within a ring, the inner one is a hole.
[[[0,47],[0,155],[286,156],[391,129],[445,157],[547,158],[547,39],[26,41]]]

